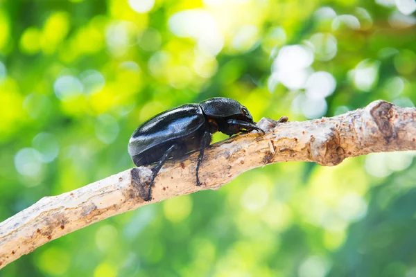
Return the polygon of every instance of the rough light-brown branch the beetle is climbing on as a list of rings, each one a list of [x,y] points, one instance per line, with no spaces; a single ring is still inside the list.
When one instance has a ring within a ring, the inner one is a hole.
[[[372,152],[416,150],[416,109],[378,100],[332,118],[278,123],[263,118],[266,134],[250,133],[211,145],[195,186],[198,153],[168,161],[159,172],[153,198],[144,201],[150,167],[125,170],[93,184],[39,202],[0,223],[0,269],[42,244],[107,217],[198,190],[218,189],[241,173],[281,161],[336,166]],[[132,181],[132,175],[138,181]]]

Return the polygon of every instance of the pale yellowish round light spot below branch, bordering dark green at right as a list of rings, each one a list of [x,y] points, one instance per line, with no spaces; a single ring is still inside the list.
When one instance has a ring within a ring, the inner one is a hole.
[[[349,193],[341,199],[338,213],[348,222],[361,220],[367,214],[367,202],[361,195]]]

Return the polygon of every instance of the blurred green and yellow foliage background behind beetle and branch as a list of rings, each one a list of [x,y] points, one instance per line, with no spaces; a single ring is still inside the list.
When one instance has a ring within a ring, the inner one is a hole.
[[[0,221],[132,167],[137,125],[187,102],[235,98],[255,120],[413,106],[415,13],[395,3],[0,0]],[[416,276],[415,172],[413,152],[257,168],[53,240],[0,276]]]

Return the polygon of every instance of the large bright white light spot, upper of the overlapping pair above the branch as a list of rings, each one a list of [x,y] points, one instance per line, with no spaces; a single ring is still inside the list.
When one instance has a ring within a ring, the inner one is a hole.
[[[304,69],[313,62],[313,53],[311,48],[303,45],[283,46],[275,62],[273,69],[282,69],[284,71],[293,71]]]

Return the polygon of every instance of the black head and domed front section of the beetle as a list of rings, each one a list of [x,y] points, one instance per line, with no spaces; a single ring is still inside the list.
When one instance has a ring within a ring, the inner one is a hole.
[[[252,126],[255,124],[250,111],[234,99],[223,97],[210,98],[201,102],[200,106],[209,120],[211,133],[219,131],[231,136],[239,132],[250,132],[252,129],[255,129],[253,127],[244,128],[242,125],[231,124],[231,122],[248,123],[248,125]]]

